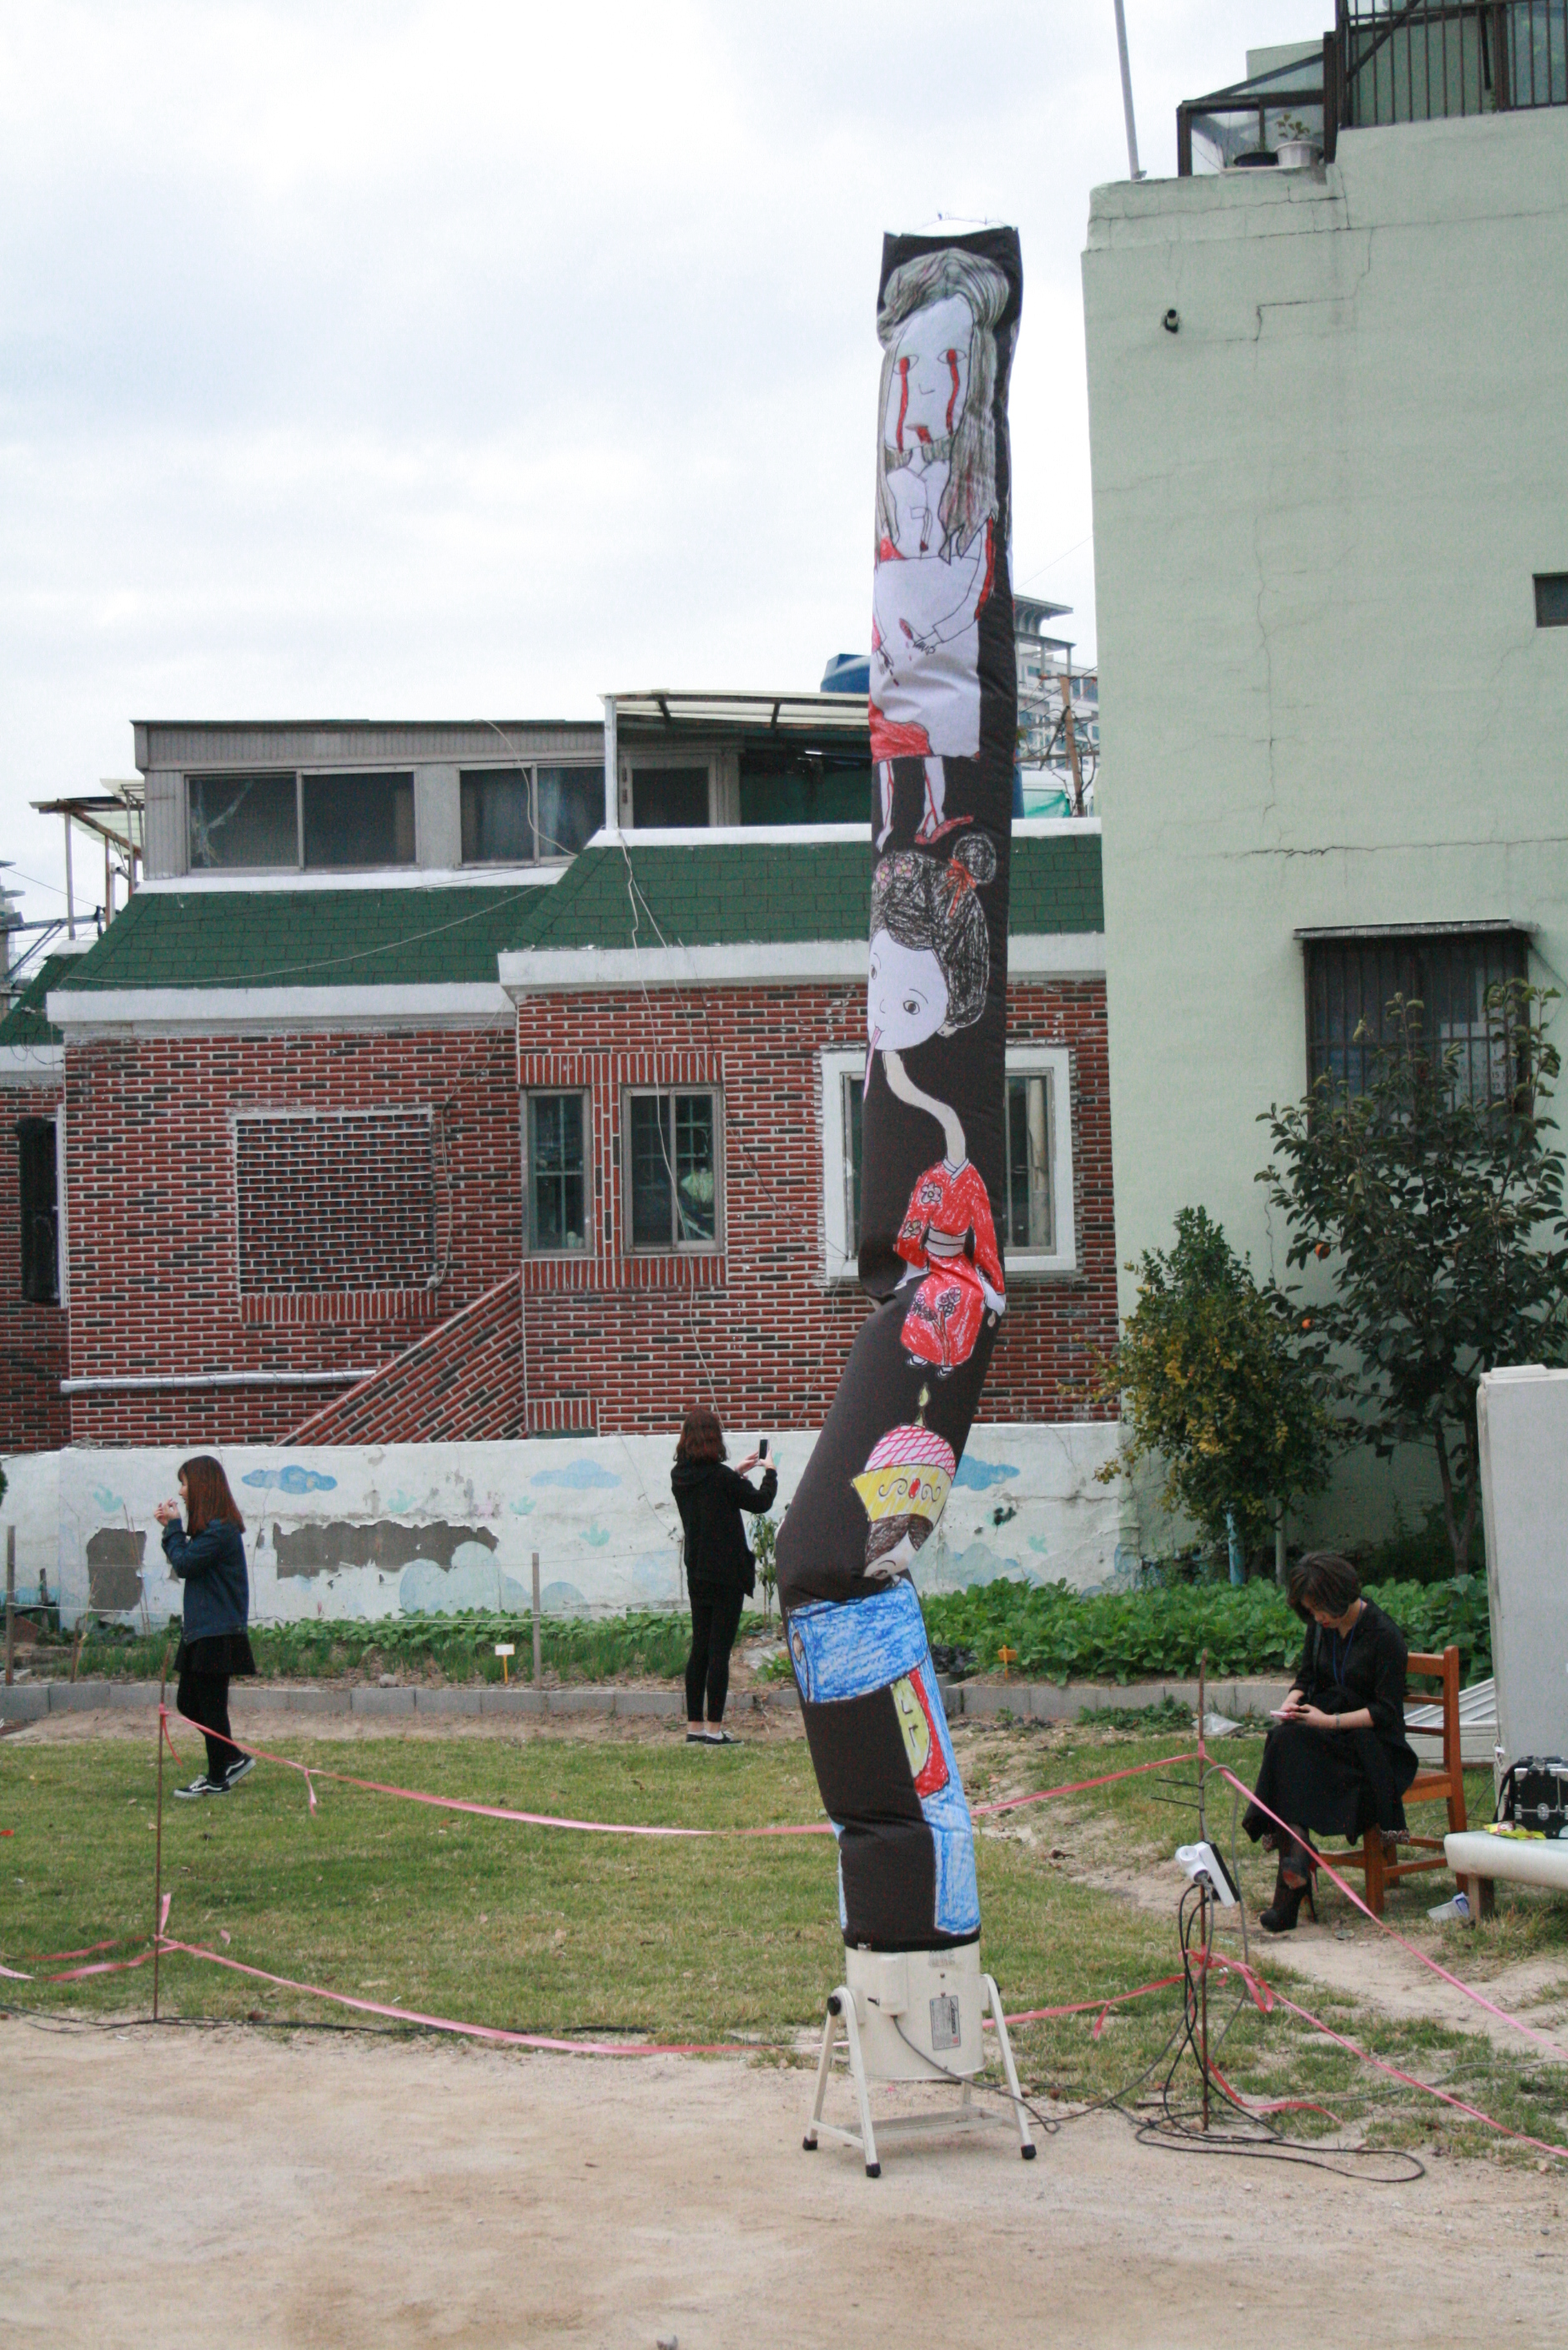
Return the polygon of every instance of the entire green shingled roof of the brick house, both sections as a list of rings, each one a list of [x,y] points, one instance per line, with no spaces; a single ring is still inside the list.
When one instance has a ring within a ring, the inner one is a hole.
[[[82,956],[56,956],[0,1043],[56,1041],[49,987],[430,987],[495,980],[519,947],[737,947],[864,938],[866,841],[584,848],[547,888],[138,891]],[[1096,832],[1014,839],[1012,928],[1101,931]],[[28,1003],[35,1008],[26,1010]],[[14,1027],[33,1020],[35,1032]]]

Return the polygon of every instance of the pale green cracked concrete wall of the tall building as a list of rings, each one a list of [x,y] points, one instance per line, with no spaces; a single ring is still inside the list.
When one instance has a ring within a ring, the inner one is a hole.
[[[1265,1271],[1298,928],[1568,971],[1568,110],[1099,188],[1084,317],[1117,1253],[1202,1203]],[[1397,1483],[1352,1457],[1319,1525]]]

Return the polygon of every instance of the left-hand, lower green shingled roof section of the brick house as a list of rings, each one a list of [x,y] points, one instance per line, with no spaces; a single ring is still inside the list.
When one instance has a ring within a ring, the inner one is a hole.
[[[549,888],[138,891],[61,992],[495,980]]]

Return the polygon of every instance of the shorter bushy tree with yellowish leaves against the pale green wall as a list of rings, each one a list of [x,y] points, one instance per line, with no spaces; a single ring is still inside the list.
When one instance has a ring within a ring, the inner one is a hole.
[[[1258,1542],[1286,1504],[1329,1480],[1333,1422],[1293,1344],[1296,1311],[1265,1292],[1202,1208],[1148,1250],[1138,1304],[1099,1391],[1120,1396],[1134,1459],[1160,1455],[1164,1502],[1218,1542]],[[1108,1483],[1115,1464],[1101,1471]]]

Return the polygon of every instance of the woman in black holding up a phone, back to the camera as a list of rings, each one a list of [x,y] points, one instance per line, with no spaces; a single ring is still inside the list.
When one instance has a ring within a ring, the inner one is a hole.
[[[735,1739],[723,1723],[723,1701],[730,1694],[730,1650],[739,1631],[742,1603],[756,1591],[756,1560],[746,1549],[746,1532],[739,1523],[742,1509],[753,1516],[772,1509],[779,1490],[779,1471],[768,1464],[761,1492],[746,1485],[746,1469],[756,1469],[758,1455],[728,1469],[723,1457],[723,1429],[718,1412],[702,1408],[685,1415],[676,1466],[669,1483],[685,1530],[685,1589],[692,1603],[692,1652],[685,1659],[685,1744],[732,1746]],[[709,1718],[702,1725],[702,1694],[707,1687]]]

